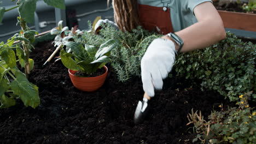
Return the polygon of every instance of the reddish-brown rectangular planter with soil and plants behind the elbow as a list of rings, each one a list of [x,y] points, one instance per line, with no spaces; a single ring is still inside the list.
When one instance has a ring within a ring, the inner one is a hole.
[[[242,3],[240,1],[233,2],[223,0],[213,2],[216,8],[218,9],[219,15],[222,17],[224,27],[256,32],[256,14],[253,12],[256,11],[255,0],[249,0],[248,3]],[[242,11],[247,11],[247,13],[226,10],[228,9],[228,5],[234,5]]]

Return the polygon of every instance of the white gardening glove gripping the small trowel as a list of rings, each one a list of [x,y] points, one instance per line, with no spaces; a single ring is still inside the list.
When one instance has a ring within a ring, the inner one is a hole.
[[[154,88],[162,89],[163,81],[172,70],[176,49],[173,41],[154,39],[141,60],[141,77],[144,92],[154,97]]]

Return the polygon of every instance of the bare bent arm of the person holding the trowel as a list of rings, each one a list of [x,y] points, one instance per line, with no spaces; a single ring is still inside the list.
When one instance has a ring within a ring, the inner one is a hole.
[[[180,52],[203,49],[218,43],[226,37],[222,19],[212,3],[205,2],[197,5],[194,9],[194,14],[198,22],[176,32],[184,42]],[[162,38],[170,39],[166,35]],[[176,50],[178,50],[178,48],[179,47],[176,45]]]

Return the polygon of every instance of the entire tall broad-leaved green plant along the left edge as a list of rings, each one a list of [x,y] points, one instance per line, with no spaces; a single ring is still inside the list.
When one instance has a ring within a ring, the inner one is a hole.
[[[44,2],[53,7],[65,8],[64,0],[44,0]],[[0,43],[0,108],[15,105],[15,99],[18,98],[25,106],[35,108],[40,104],[38,87],[27,79],[34,65],[33,59],[30,58],[30,52],[34,48],[32,43],[35,40],[35,34],[38,34],[28,28],[27,22],[33,22],[36,3],[37,0],[19,0],[13,8],[0,7],[0,22],[5,12],[18,8],[17,25],[21,27],[21,31],[8,39],[7,43],[3,41]],[[14,41],[20,43],[14,44]],[[18,67],[17,62],[21,68]],[[25,69],[24,73],[22,68]]]

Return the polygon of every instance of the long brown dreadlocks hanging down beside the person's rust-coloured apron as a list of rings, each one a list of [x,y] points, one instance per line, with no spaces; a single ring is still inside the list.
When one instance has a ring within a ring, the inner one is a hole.
[[[115,22],[121,31],[131,32],[139,26],[137,0],[112,0],[112,5]]]

